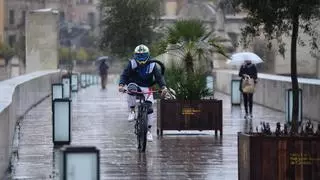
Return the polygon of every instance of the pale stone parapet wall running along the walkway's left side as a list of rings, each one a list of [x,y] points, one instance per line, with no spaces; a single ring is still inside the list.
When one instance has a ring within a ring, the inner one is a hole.
[[[39,71],[0,82],[0,179],[10,162],[17,121],[51,94],[60,76],[58,70]]]

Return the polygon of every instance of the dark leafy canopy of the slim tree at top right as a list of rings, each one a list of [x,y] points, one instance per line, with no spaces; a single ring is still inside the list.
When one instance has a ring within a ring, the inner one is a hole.
[[[242,42],[245,46],[251,40],[264,34],[268,40],[278,40],[279,53],[284,55],[285,43],[283,35],[292,35],[293,23],[298,23],[302,31],[310,35],[309,44],[312,49],[318,49],[316,34],[312,23],[320,19],[319,0],[229,0],[233,6],[248,12],[245,21],[247,25],[242,30]],[[298,17],[298,22],[293,17]],[[300,45],[306,42],[299,40]],[[271,43],[269,44],[271,48]]]

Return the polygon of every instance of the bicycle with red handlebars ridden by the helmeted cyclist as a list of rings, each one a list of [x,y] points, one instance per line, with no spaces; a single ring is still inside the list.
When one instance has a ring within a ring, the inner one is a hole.
[[[153,112],[152,103],[146,100],[145,94],[155,93],[155,92],[161,93],[162,91],[156,90],[156,91],[142,92],[138,86],[133,87],[132,89],[136,89],[136,90],[125,89],[124,93],[135,95],[136,98],[139,100],[138,104],[136,105],[137,116],[135,118],[136,120],[135,134],[137,136],[137,141],[138,141],[138,150],[140,152],[145,152],[146,146],[147,146],[148,114]],[[168,95],[166,95],[165,98],[175,98],[174,91],[172,89],[169,89]]]

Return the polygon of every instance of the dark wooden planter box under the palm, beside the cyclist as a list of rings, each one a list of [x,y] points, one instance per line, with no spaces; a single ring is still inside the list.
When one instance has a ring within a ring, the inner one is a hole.
[[[159,100],[157,134],[163,130],[214,130],[222,135],[222,100]]]

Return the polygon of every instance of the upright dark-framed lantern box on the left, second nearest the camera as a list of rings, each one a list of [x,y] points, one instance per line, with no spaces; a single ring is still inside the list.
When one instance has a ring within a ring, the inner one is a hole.
[[[52,105],[52,140],[55,146],[71,142],[71,100],[54,99]]]

